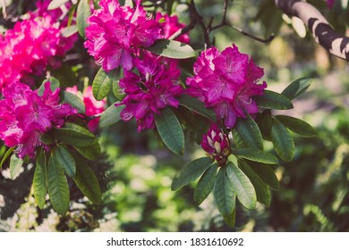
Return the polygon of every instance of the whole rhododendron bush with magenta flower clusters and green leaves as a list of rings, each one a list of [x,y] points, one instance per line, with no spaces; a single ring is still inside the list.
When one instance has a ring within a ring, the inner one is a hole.
[[[188,6],[189,24],[172,14],[175,4]],[[294,79],[282,93],[268,90],[262,65],[233,42],[219,51],[211,39],[211,30],[226,25],[226,9],[217,26],[205,26],[199,17],[193,0],[144,5],[140,0],[41,0],[36,11],[4,32],[1,166],[8,165],[14,177],[35,165],[38,207],[47,204],[48,194],[55,211],[65,214],[67,178],[98,204],[101,190],[88,165],[101,153],[98,130],[132,120],[138,133],[153,130],[174,154],[184,154],[184,142],[202,147],[207,156],[185,164],[172,189],[199,179],[195,203],[212,192],[231,227],[237,201],[249,210],[257,202],[270,204],[271,190],[278,189],[273,166],[294,157],[290,130],[316,136],[305,121],[274,111],[292,109],[311,78]],[[205,43],[195,51],[189,32],[202,25]],[[91,85],[78,87],[53,76],[81,39],[100,68]],[[265,141],[273,150],[264,148]]]

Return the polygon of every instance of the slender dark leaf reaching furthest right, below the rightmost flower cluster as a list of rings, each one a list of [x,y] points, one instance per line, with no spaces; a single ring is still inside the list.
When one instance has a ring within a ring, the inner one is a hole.
[[[302,137],[316,137],[317,132],[305,121],[287,115],[277,115],[278,121],[281,121],[288,129]]]

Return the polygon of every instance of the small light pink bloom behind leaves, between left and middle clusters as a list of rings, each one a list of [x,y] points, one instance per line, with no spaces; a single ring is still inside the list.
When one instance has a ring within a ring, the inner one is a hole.
[[[94,115],[105,111],[106,100],[98,101],[93,96],[92,87],[86,87],[81,93],[78,91],[78,87],[67,87],[65,91],[70,92],[74,95],[81,96],[81,99],[86,107],[86,115]],[[98,128],[99,117],[89,121],[88,128],[89,131],[94,132]]]

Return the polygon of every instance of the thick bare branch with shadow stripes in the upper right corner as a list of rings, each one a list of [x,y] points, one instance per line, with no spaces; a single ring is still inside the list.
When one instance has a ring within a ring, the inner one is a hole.
[[[329,53],[349,61],[349,37],[336,33],[314,6],[301,0],[275,0],[275,4],[286,14],[300,18],[310,29],[315,41]]]

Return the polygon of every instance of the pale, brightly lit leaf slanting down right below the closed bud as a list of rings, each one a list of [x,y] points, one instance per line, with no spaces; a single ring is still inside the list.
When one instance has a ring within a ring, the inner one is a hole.
[[[254,209],[257,196],[251,180],[233,162],[226,165],[226,173],[241,204],[249,210]]]

